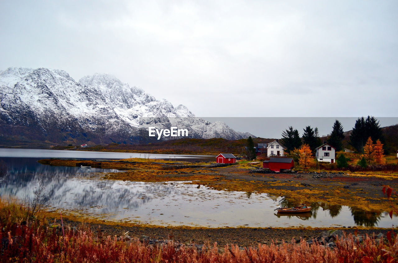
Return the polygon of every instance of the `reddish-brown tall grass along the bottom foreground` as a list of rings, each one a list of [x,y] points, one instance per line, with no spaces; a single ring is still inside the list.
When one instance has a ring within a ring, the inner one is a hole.
[[[95,236],[87,227],[78,232],[70,229],[63,237],[59,230],[47,226],[4,225],[0,223],[0,262],[186,262],[186,263],[260,263],[260,262],[398,262],[398,243],[394,237],[385,244],[367,238],[357,244],[353,236],[345,241],[336,242],[334,249],[320,244],[309,246],[300,244],[258,245],[255,248],[239,249],[238,246],[226,246],[222,251],[215,244],[195,248],[174,244],[151,246],[134,242],[120,242],[116,238]]]

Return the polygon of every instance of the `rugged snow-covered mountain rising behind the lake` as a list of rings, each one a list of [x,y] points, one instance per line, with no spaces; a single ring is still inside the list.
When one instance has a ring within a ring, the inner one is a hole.
[[[187,107],[156,100],[113,75],[94,74],[76,82],[63,70],[8,68],[0,72],[0,139],[137,143],[152,125],[187,128],[194,138],[251,135],[223,122],[196,118]]]

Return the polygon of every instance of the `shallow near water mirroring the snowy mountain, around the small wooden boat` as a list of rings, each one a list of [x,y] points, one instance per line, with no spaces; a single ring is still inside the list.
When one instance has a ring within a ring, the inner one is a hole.
[[[197,188],[196,185],[185,182],[100,180],[103,173],[120,171],[47,166],[39,164],[39,159],[0,157],[8,166],[6,180],[0,184],[0,195],[24,199],[25,196],[32,195],[41,181],[49,193],[50,209],[54,211],[62,211],[64,214],[72,211],[104,220],[157,225],[388,228],[398,223],[397,217],[391,220],[386,212],[328,206],[325,203],[307,203],[314,207],[308,214],[277,215],[273,210],[278,205],[294,204],[285,197],[217,191],[205,186]]]

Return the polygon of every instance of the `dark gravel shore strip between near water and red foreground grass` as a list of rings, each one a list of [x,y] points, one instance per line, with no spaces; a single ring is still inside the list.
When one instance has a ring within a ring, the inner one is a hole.
[[[51,221],[50,221],[51,222]],[[57,220],[57,223],[60,223]],[[64,226],[79,228],[81,222],[64,220]],[[179,243],[189,244],[213,244],[217,242],[219,246],[236,244],[238,246],[256,246],[260,244],[271,244],[272,241],[287,241],[292,239],[304,240],[311,239],[320,232],[330,228],[201,228],[201,229],[176,229],[176,228],[155,228],[155,227],[127,227],[109,226],[106,224],[90,224],[91,230],[98,234],[109,236],[122,236],[129,232],[132,238],[142,238],[148,236],[150,240],[174,240]],[[390,229],[361,229],[345,228],[346,234],[386,234]]]

